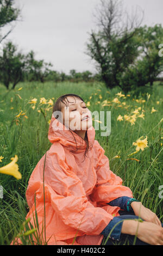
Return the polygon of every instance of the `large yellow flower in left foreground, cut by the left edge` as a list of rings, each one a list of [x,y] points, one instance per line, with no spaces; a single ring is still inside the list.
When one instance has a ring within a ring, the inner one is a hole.
[[[6,166],[0,168],[0,173],[8,174],[14,176],[16,179],[21,179],[22,175],[18,172],[18,164],[16,163],[18,160],[17,155],[15,157],[11,157],[11,162]]]

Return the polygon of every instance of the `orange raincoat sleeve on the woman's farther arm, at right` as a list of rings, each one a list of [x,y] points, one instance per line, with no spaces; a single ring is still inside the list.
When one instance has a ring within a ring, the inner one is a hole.
[[[97,183],[91,193],[91,200],[106,205],[118,197],[133,198],[129,187],[122,185],[122,179],[110,170],[109,159],[104,155],[105,150],[95,141],[97,149]]]

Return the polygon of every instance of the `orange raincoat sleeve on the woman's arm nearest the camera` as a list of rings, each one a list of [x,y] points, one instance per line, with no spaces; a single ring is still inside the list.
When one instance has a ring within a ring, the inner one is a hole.
[[[70,170],[66,161],[55,154],[47,155],[45,164],[45,192],[48,202],[66,225],[79,230],[78,234],[99,235],[113,216],[87,199],[83,183],[76,170]],[[43,200],[43,190],[37,200]]]

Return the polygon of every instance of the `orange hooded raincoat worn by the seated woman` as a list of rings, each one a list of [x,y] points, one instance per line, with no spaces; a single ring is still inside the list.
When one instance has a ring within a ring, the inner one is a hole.
[[[76,138],[76,142],[73,138]],[[48,139],[51,148],[37,163],[29,179],[26,198],[29,205],[27,218],[36,211],[40,230],[44,215],[43,168],[45,187],[46,240],[48,245],[100,245],[101,232],[114,218],[119,216],[118,206],[107,203],[128,196],[130,188],[122,185],[122,179],[109,167],[105,150],[95,140],[95,129],[87,130],[92,145],[84,160],[86,142],[55,119],[52,114]],[[81,145],[82,142],[82,145]],[[76,153],[76,143],[78,151]],[[90,146],[91,146],[90,145]],[[44,231],[43,231],[44,233]]]

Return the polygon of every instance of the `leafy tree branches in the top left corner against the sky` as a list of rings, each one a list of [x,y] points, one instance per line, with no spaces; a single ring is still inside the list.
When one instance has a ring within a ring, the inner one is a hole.
[[[14,8],[13,3],[14,0],[0,0],[0,29],[12,21],[16,21],[18,15],[20,15],[20,9]],[[4,36],[0,35],[0,44],[12,29],[13,28],[11,28]]]

